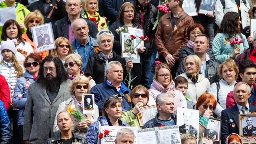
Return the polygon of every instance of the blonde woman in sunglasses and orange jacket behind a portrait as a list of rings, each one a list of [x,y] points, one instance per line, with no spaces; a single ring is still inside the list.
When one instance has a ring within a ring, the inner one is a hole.
[[[44,23],[44,17],[39,10],[35,10],[27,14],[24,19],[24,24],[26,28],[28,28],[28,30],[26,31],[26,33],[22,34],[22,40],[30,43],[30,45],[34,50],[34,53],[37,53],[37,51],[36,51],[36,48],[34,47],[31,27],[42,25],[43,23]],[[49,54],[49,50],[39,52],[38,54],[42,57],[42,59],[44,59]]]

